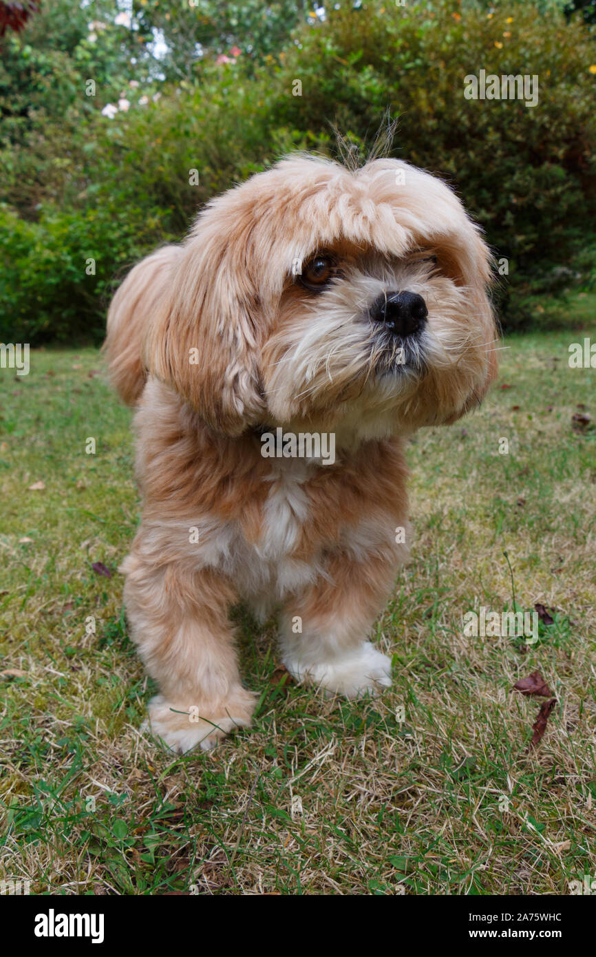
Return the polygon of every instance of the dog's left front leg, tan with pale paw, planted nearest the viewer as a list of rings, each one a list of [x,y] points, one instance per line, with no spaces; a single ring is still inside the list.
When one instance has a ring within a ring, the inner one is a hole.
[[[156,567],[141,548],[121,570],[131,634],[160,688],[149,702],[153,733],[175,751],[207,750],[250,724],[254,694],[240,682],[227,580],[211,569]]]

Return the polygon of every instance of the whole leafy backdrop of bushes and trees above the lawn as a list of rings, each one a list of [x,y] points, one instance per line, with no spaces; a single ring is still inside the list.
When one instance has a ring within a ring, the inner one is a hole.
[[[452,183],[508,259],[507,328],[564,323],[593,287],[593,2],[32,8],[0,37],[5,340],[99,342],[125,270],[211,195],[290,149],[336,155],[334,126],[364,157],[387,109],[394,154]],[[538,75],[539,105],[465,100],[481,68]]]

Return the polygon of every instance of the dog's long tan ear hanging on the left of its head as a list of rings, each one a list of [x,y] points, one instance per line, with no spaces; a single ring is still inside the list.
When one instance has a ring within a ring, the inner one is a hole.
[[[170,383],[219,432],[238,435],[263,421],[257,356],[262,329],[250,211],[212,203],[198,218],[152,317],[146,367]],[[220,214],[221,213],[221,214]]]

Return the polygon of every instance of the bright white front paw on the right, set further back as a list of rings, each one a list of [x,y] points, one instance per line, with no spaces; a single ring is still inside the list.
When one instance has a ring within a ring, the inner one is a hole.
[[[283,663],[294,679],[323,688],[328,696],[361,698],[378,694],[391,684],[391,661],[370,641],[333,661],[305,666],[285,658]]]

